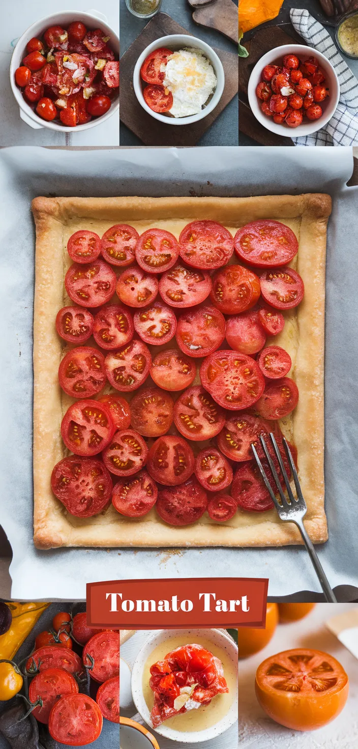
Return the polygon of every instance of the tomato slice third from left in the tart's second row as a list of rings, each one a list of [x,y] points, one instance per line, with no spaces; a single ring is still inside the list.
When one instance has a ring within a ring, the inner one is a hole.
[[[159,282],[162,299],[172,307],[192,307],[209,296],[211,279],[204,270],[193,270],[178,263],[163,273]]]

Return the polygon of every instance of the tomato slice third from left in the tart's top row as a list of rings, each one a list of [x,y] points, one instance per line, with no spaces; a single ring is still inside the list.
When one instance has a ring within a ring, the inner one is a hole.
[[[170,231],[147,229],[139,237],[136,261],[147,273],[164,273],[175,265],[178,256],[178,241]]]

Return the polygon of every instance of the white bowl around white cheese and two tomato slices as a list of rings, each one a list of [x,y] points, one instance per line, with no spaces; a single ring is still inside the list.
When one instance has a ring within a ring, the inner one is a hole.
[[[151,107],[148,106],[148,104],[145,102],[141,79],[141,67],[145,61],[145,58],[147,58],[154,49],[159,49],[163,46],[172,49],[173,52],[175,52],[177,49],[183,49],[184,47],[201,49],[201,52],[204,52],[204,55],[206,55],[207,59],[210,60],[210,63],[213,66],[213,71],[217,79],[216,89],[213,92],[213,96],[211,97],[207,105],[204,106],[203,109],[201,109],[201,112],[198,112],[197,115],[190,115],[189,117],[170,117],[168,115],[161,115],[160,112],[153,112],[153,109],[151,109]],[[145,109],[145,112],[148,112],[148,115],[151,115],[156,120],[160,120],[160,122],[165,122],[167,125],[189,125],[192,122],[198,122],[198,120],[202,120],[210,112],[213,112],[213,109],[215,109],[215,107],[219,104],[219,100],[222,97],[222,91],[224,91],[224,85],[224,68],[222,67],[222,61],[216,55],[216,52],[214,52],[212,47],[210,47],[206,42],[203,42],[201,39],[197,39],[196,37],[188,36],[188,34],[169,34],[169,36],[167,37],[160,37],[160,39],[156,39],[155,42],[152,42],[143,50],[142,55],[139,55],[133,73],[133,86],[139,104],[141,104],[143,109]]]

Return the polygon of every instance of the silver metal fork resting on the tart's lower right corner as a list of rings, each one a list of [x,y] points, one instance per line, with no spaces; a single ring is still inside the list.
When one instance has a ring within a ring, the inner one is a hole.
[[[273,459],[270,456],[270,452],[267,449],[267,445],[265,443],[265,440],[264,440],[264,437],[262,436],[262,434],[261,434],[261,437],[260,437],[261,445],[262,445],[262,447],[264,449],[264,454],[266,455],[267,462],[268,462],[268,464],[270,466],[271,473],[273,475],[273,479],[275,480],[277,491],[279,492],[280,502],[277,499],[277,497],[276,497],[276,495],[275,495],[275,493],[274,493],[274,491],[273,491],[273,489],[272,489],[272,487],[270,485],[270,481],[267,478],[266,473],[264,472],[264,467],[262,466],[261,460],[258,457],[258,453],[257,453],[257,451],[255,449],[255,445],[252,444],[251,445],[252,452],[253,452],[253,454],[255,456],[255,461],[258,464],[258,469],[259,469],[259,471],[261,473],[262,478],[264,479],[265,486],[267,488],[267,491],[270,494],[271,499],[273,500],[273,504],[276,507],[276,510],[278,512],[278,515],[279,515],[279,518],[282,521],[285,521],[285,522],[288,522],[288,523],[294,523],[295,525],[297,525],[297,528],[300,530],[300,534],[301,534],[301,536],[303,538],[304,545],[306,546],[306,549],[309,552],[309,557],[311,559],[312,565],[315,568],[315,572],[317,574],[318,580],[321,583],[321,587],[322,587],[322,590],[323,590],[324,595],[326,597],[326,600],[330,601],[331,603],[337,603],[336,595],[334,594],[333,589],[331,588],[330,583],[328,582],[327,577],[324,574],[324,570],[323,570],[321,562],[318,559],[318,556],[316,554],[315,547],[313,546],[312,541],[309,538],[309,535],[308,535],[308,533],[306,531],[306,528],[303,525],[303,518],[304,518],[304,516],[306,515],[306,512],[307,512],[307,505],[306,505],[305,500],[303,499],[303,494],[302,494],[302,491],[301,491],[300,482],[298,480],[297,470],[296,470],[296,466],[294,464],[294,459],[292,458],[292,455],[291,455],[291,450],[290,450],[290,448],[288,446],[288,443],[285,440],[285,437],[283,437],[282,442],[283,442],[283,446],[285,448],[285,453],[286,453],[287,458],[288,458],[288,464],[289,464],[289,466],[291,468],[292,476],[294,477],[294,485],[296,487],[297,497],[294,497],[294,494],[292,492],[292,489],[291,489],[291,486],[290,486],[290,482],[289,482],[289,479],[288,479],[288,475],[287,475],[285,466],[284,466],[283,461],[282,461],[282,455],[279,452],[279,447],[278,447],[278,445],[276,443],[275,436],[274,436],[274,434],[272,432],[270,432],[270,438],[271,438],[271,442],[273,443],[273,449],[274,449],[274,451],[276,453],[276,458],[279,461],[279,467],[280,467],[280,469],[282,471],[282,476],[283,476],[283,478],[285,480],[285,486],[286,486],[286,490],[287,490],[287,493],[288,493],[288,499],[287,499],[287,497],[285,497],[285,493],[284,493],[284,491],[282,489],[281,482],[279,480],[279,476],[277,474],[275,465],[273,463]]]

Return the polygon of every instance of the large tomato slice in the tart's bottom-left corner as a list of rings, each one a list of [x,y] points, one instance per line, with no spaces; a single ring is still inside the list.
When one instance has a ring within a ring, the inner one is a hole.
[[[91,518],[109,503],[112,479],[102,461],[70,455],[52,470],[51,488],[71,515]]]

